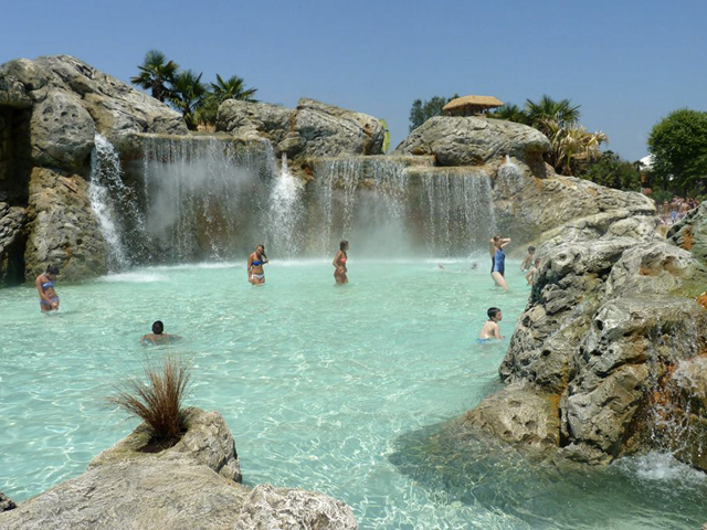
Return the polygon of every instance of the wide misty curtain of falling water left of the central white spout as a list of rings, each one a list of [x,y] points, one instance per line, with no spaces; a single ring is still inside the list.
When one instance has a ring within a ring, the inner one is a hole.
[[[265,243],[267,184],[277,173],[270,142],[236,149],[230,138],[147,138],[144,156],[154,252],[223,259]]]

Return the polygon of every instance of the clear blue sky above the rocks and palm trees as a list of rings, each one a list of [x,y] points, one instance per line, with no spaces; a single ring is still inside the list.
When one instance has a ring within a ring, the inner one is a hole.
[[[145,52],[236,74],[264,102],[302,96],[386,118],[458,93],[581,105],[635,160],[673,109],[707,110],[707,1],[3,2],[0,63],[66,53],[129,82]]]

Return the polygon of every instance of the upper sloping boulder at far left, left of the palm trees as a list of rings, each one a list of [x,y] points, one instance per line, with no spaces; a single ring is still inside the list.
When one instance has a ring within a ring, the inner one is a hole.
[[[31,108],[36,166],[86,174],[95,132],[119,144],[126,134],[186,134],[167,105],[70,55],[0,65],[0,106]]]

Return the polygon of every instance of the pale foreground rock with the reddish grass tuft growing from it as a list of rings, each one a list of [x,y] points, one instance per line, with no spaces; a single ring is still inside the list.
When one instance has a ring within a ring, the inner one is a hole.
[[[221,415],[190,409],[189,417],[182,439],[160,453],[141,451],[149,434],[138,426],[83,475],[0,513],[0,528],[358,528],[351,509],[326,495],[239,484],[238,454]]]

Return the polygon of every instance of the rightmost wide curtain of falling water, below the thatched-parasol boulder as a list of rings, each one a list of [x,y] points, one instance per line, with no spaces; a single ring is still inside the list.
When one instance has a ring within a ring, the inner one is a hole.
[[[485,248],[496,232],[490,179],[483,171],[437,170],[422,176],[423,224],[435,256]]]

